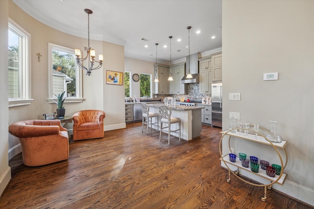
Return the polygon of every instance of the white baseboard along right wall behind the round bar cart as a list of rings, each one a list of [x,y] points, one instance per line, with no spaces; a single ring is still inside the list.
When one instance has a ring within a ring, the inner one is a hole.
[[[226,165],[221,162],[221,166],[226,168]],[[236,170],[237,167],[233,165],[228,165],[231,170]],[[265,182],[265,179],[262,177],[257,177],[256,175],[249,173],[249,172],[241,172],[242,175],[247,176],[248,178],[255,180],[260,183],[268,184],[269,182]],[[236,178],[231,174],[231,179]],[[278,191],[280,191],[283,194],[286,194],[292,198],[295,198],[297,200],[300,200],[303,203],[309,204],[311,206],[314,206],[314,189],[303,186],[303,185],[298,185],[295,182],[286,180],[284,185],[279,185],[279,184],[273,184],[272,187]]]

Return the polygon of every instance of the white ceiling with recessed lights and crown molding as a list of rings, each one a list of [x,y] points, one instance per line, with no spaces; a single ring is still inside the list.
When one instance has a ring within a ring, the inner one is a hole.
[[[36,20],[82,38],[88,37],[84,9],[91,9],[90,39],[122,45],[127,57],[155,62],[157,50],[158,62],[169,62],[169,36],[173,36],[171,60],[185,58],[189,53],[187,26],[192,27],[190,54],[222,46],[222,0],[13,1]],[[201,32],[197,34],[197,30]],[[179,38],[181,42],[177,41]],[[155,43],[159,44],[157,49]]]

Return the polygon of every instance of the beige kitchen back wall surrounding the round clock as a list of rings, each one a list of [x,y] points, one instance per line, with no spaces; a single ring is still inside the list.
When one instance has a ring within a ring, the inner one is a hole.
[[[130,57],[125,58],[125,71],[130,71],[131,73],[131,79],[130,79],[130,84],[131,84],[131,94],[130,96],[136,96],[139,97],[140,95],[140,86],[139,86],[139,81],[135,82],[132,80],[132,75],[134,73],[137,74],[151,74],[152,75],[152,93],[154,93],[154,80],[155,80],[155,74],[154,74],[154,65],[155,63],[149,62],[149,61],[144,61],[144,60],[138,60]]]

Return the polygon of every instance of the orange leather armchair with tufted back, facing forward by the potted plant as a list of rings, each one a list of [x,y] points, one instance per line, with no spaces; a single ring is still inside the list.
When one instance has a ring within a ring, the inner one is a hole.
[[[73,140],[97,139],[104,137],[105,112],[82,110],[73,115]]]

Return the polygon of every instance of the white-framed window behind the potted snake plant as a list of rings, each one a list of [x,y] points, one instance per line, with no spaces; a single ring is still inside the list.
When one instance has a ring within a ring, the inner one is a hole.
[[[49,102],[65,92],[64,102],[81,102],[81,70],[76,64],[75,49],[48,43]]]

